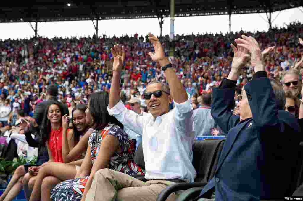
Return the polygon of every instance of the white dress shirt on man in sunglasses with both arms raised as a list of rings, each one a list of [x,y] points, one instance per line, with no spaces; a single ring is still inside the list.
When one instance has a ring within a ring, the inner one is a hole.
[[[193,182],[197,175],[192,165],[194,142],[191,100],[158,116],[140,116],[128,110],[120,100],[108,113],[123,125],[142,135],[146,179],[183,179]]]

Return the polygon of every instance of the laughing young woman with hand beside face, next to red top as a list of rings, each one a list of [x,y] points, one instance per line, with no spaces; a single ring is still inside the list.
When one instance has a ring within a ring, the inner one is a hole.
[[[73,130],[68,132],[69,117],[62,117],[62,162],[53,162],[43,166],[39,172],[30,200],[50,199],[50,190],[62,180],[75,177],[80,169],[83,159],[77,160],[85,153],[88,146],[88,138],[92,134],[85,118],[85,104],[78,104],[72,110]],[[85,134],[85,135],[84,135]],[[83,136],[84,135],[84,136]],[[80,140],[80,136],[83,136]],[[41,193],[40,193],[41,192]]]

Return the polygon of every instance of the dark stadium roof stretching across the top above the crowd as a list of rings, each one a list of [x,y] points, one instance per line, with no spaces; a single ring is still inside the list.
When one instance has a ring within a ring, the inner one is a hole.
[[[170,17],[170,0],[2,1],[0,22],[43,22]],[[281,11],[303,0],[175,0],[175,17]]]

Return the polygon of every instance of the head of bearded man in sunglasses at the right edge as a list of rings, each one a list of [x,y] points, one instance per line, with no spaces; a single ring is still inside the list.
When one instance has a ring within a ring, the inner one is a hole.
[[[285,92],[290,91],[292,95],[301,99],[302,80],[300,80],[299,72],[296,69],[289,69],[284,74],[283,89]]]

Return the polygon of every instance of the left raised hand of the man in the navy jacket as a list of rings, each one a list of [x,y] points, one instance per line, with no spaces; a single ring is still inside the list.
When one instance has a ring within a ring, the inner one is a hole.
[[[235,40],[235,42],[237,43],[237,39]],[[232,59],[231,68],[238,71],[247,63],[250,56],[248,54],[248,51],[241,46],[238,46],[238,48],[236,48],[231,43],[231,48],[234,52],[234,58]]]

